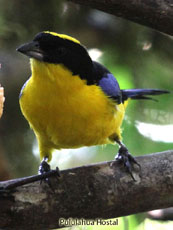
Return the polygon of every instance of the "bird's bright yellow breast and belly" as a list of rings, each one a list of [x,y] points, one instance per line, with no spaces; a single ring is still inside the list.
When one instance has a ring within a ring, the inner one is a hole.
[[[61,65],[35,62],[20,106],[41,157],[49,155],[50,160],[54,148],[106,144],[114,134],[120,138],[123,104],[115,105],[98,86],[86,85]]]

